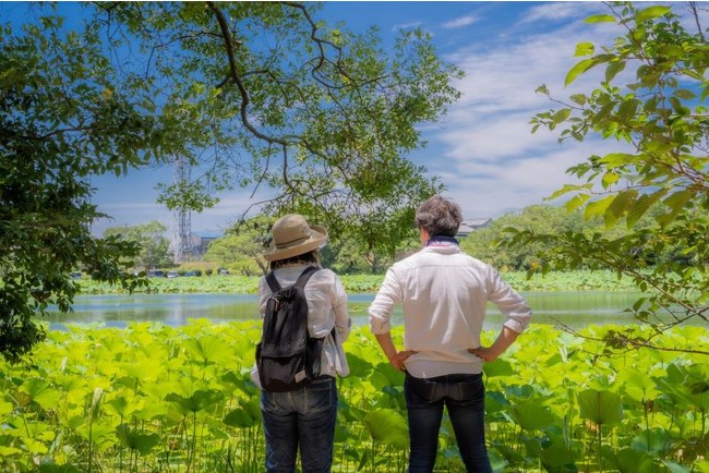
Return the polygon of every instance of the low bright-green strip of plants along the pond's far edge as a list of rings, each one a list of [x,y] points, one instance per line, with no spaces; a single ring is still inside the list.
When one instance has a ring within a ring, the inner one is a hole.
[[[534,275],[528,279],[525,271],[503,272],[503,278],[518,292],[564,292],[564,291],[637,291],[627,277],[618,278],[612,271],[555,271],[544,276]],[[149,278],[147,288],[137,293],[219,293],[255,294],[259,292],[259,276],[199,276],[179,278]],[[384,275],[340,275],[349,293],[376,292]],[[127,292],[120,286],[77,279],[80,294],[119,294]]]

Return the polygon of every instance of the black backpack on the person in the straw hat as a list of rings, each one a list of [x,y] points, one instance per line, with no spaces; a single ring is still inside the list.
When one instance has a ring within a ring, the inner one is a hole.
[[[320,375],[323,339],[310,337],[305,300],[305,284],[316,270],[309,266],[288,288],[280,287],[273,271],[266,276],[273,294],[256,345],[259,379],[266,391],[292,391]]]

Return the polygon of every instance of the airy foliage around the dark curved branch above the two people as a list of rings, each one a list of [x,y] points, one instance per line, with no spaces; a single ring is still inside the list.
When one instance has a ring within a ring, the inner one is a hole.
[[[264,213],[303,214],[335,238],[393,255],[413,208],[442,189],[407,155],[423,145],[419,124],[443,118],[459,97],[461,71],[420,29],[401,32],[386,51],[376,28],[328,25],[319,8],[98,3],[95,20],[121,29],[110,45],[117,58],[149,60],[140,78],[169,104],[166,116],[190,117],[203,135],[204,146],[180,150],[204,171],[200,182],[165,186],[168,207],[200,209],[204,190],[235,183],[265,187],[274,196],[254,204]]]

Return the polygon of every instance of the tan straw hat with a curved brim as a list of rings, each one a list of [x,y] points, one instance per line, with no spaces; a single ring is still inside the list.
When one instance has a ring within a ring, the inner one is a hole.
[[[264,252],[267,262],[276,262],[302,255],[323,245],[327,241],[327,230],[320,226],[309,226],[302,215],[289,214],[280,217],[271,229],[273,240]]]

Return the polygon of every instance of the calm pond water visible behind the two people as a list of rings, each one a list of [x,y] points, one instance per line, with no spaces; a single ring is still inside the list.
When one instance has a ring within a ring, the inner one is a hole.
[[[623,313],[638,298],[632,292],[528,292],[534,324],[564,324],[580,328],[588,324],[630,323]],[[349,308],[354,325],[366,325],[366,307],[374,294],[350,294]],[[125,327],[130,322],[159,322],[171,326],[188,324],[192,318],[215,323],[259,318],[257,298],[253,294],[133,294],[82,295],[75,298],[74,312],[61,314],[56,308],[46,319],[52,329],[65,324],[92,324]],[[400,323],[400,310],[394,322]],[[495,329],[502,315],[490,305],[485,330]]]

